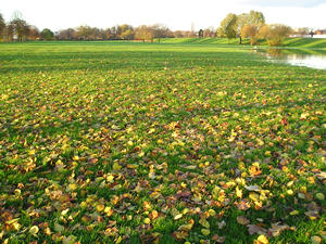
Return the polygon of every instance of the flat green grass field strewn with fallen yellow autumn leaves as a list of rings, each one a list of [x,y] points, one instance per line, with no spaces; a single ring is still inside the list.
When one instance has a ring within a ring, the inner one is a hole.
[[[326,70],[249,50],[1,43],[0,242],[325,242]]]

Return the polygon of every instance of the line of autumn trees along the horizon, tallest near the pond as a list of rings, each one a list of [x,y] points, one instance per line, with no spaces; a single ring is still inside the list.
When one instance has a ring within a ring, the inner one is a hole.
[[[261,39],[267,40],[269,46],[279,46],[291,34],[309,35],[312,30],[300,28],[296,31],[283,24],[268,25],[262,12],[250,11],[249,13],[229,13],[221,22],[218,28],[209,27],[198,33],[191,30],[172,31],[165,25],[141,25],[134,27],[128,24],[116,25],[110,28],[97,28],[82,25],[77,28],[62,29],[53,33],[49,28],[41,31],[29,25],[20,14],[15,14],[10,22],[5,22],[0,13],[0,40],[3,41],[26,41],[26,40],[140,40],[153,41],[162,38],[183,37],[218,37],[249,38],[251,44],[258,44]]]

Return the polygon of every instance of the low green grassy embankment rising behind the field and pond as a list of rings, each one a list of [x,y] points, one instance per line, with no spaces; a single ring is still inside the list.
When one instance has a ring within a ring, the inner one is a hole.
[[[238,39],[227,40],[224,38],[171,38],[161,40],[163,43],[212,43],[212,44],[238,44]],[[244,44],[248,44],[248,40],[243,40]],[[266,46],[262,42],[262,46]],[[312,38],[289,38],[284,42],[283,47],[291,48],[315,48],[326,49],[326,39],[312,39]]]

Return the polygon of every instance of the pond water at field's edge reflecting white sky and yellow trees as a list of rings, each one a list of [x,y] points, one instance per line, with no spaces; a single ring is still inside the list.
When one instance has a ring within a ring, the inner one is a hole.
[[[287,63],[290,65],[326,69],[326,54],[306,50],[293,49],[253,49],[254,53],[264,55],[273,63]]]

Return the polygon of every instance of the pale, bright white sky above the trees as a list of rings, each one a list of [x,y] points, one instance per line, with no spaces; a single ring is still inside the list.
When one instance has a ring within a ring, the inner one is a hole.
[[[89,25],[164,24],[172,30],[218,27],[228,13],[264,13],[267,24],[326,28],[326,0],[1,0],[0,13],[10,21],[15,11],[39,29],[53,31]]]

